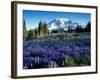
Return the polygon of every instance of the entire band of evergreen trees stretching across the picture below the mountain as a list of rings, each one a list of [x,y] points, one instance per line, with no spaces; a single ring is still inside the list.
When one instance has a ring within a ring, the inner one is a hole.
[[[71,32],[80,33],[80,32],[90,32],[90,31],[91,31],[91,23],[88,22],[85,28],[83,28],[81,25],[77,25],[75,29],[72,29],[71,26],[68,26],[67,31],[64,31],[64,29],[60,29],[60,30],[52,30],[51,32],[49,32],[47,23],[42,21],[39,22],[38,28],[27,31],[26,22],[25,20],[23,21],[23,40],[33,40],[47,36],[48,34],[71,33]]]

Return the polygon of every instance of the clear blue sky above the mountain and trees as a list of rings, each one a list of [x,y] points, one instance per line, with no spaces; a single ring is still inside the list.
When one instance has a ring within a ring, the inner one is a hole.
[[[25,20],[26,22],[27,30],[38,27],[38,24],[41,20],[46,23],[49,23],[56,18],[67,18],[71,20],[72,23],[79,23],[81,25],[86,25],[89,21],[91,21],[91,14],[76,13],[76,12],[23,10],[23,20]]]

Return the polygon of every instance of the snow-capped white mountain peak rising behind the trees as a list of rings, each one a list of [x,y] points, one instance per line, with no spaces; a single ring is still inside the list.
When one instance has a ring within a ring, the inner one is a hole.
[[[72,29],[75,29],[77,24],[73,24],[72,21],[67,18],[56,18],[48,23],[48,29],[50,31],[60,29],[68,30],[68,26],[71,26]]]

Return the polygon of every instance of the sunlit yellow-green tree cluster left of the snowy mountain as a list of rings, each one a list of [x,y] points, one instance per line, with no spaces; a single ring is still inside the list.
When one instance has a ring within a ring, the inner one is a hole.
[[[33,40],[36,38],[47,36],[48,34],[49,34],[49,30],[47,28],[46,22],[40,21],[38,28],[27,31],[26,22],[24,20],[24,22],[23,22],[23,39],[24,40]]]

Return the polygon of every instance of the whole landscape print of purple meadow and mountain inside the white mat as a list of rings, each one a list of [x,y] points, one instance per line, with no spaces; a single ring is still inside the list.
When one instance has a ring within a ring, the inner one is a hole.
[[[23,10],[23,69],[91,66],[89,13]]]

